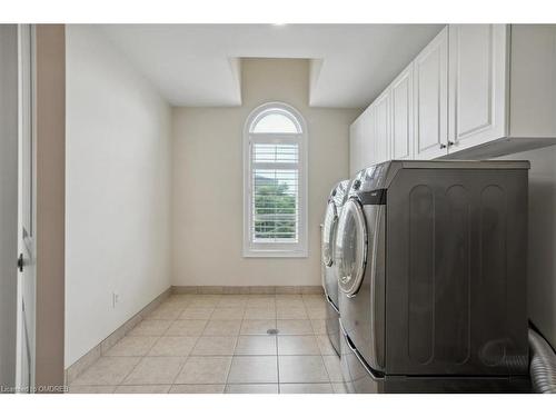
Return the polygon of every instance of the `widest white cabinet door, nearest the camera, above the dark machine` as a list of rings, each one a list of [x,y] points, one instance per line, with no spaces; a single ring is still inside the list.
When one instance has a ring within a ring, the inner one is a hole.
[[[449,26],[449,152],[507,136],[508,27]]]

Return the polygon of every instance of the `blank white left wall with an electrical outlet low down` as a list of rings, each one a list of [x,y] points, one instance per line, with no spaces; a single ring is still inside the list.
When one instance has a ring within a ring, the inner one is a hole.
[[[69,366],[170,285],[171,110],[97,29],[66,37]]]

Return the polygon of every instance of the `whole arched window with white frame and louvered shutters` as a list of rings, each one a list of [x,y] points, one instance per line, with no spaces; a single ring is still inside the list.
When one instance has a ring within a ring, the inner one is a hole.
[[[244,256],[307,256],[307,128],[291,106],[255,109],[244,131]]]

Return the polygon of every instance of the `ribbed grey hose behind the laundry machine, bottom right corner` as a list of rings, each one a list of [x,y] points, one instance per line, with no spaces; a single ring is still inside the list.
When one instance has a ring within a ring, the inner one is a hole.
[[[533,390],[542,394],[556,394],[556,354],[550,345],[533,329],[529,329],[529,347]]]

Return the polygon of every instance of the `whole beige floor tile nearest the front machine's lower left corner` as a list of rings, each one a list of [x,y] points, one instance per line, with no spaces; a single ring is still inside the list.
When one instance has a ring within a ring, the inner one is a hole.
[[[319,356],[279,356],[280,384],[329,383]]]

